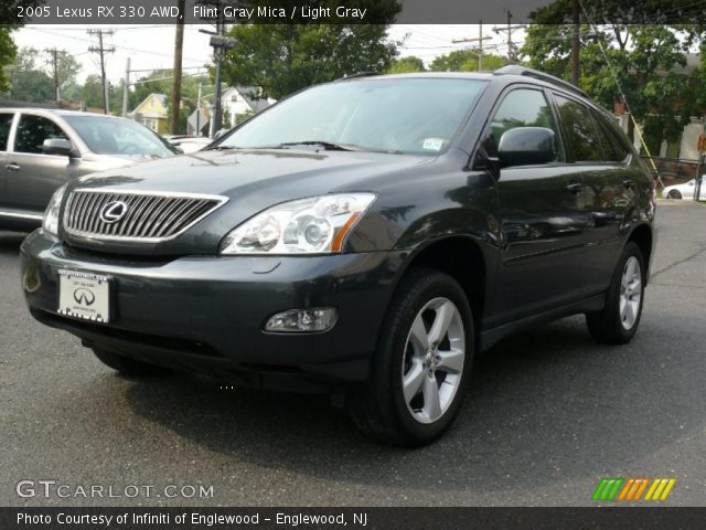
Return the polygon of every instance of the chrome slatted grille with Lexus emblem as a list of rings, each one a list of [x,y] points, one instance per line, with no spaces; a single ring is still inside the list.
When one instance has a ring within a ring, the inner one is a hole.
[[[64,209],[64,230],[71,235],[100,240],[165,241],[185,232],[227,200],[186,193],[75,190]],[[110,218],[111,206],[116,219]]]

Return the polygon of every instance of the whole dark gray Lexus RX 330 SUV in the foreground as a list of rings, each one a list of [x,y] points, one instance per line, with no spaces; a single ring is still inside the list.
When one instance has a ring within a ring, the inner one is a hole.
[[[654,205],[610,115],[559,80],[353,76],[204,151],[69,182],[22,245],[22,285],[120,372],[330,392],[414,446],[512,332],[585,314],[628,342]]]

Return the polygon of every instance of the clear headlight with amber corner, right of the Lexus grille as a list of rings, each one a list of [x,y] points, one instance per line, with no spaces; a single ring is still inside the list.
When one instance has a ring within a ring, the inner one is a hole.
[[[258,213],[221,245],[222,254],[328,254],[373,203],[373,193],[340,193],[285,202]]]

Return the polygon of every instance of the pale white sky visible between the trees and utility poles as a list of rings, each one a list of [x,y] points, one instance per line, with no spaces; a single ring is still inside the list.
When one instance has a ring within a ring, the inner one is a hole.
[[[97,53],[88,52],[88,47],[97,45],[97,38],[88,34],[89,29],[99,25],[26,25],[14,33],[15,43],[39,50],[57,47],[66,50],[76,56],[82,64],[78,82],[83,83],[89,74],[100,73],[100,62]],[[484,25],[483,33],[492,40],[484,45],[496,45],[488,50],[489,53],[506,53],[503,45],[504,35],[492,31],[492,25]],[[146,75],[147,71],[171,68],[173,66],[174,26],[173,25],[119,25],[103,26],[115,33],[105,40],[104,45],[115,46],[115,53],[106,55],[106,72],[111,83],[119,83],[125,77],[126,62],[131,61],[133,72],[131,81]],[[200,33],[200,29],[211,29],[208,25],[186,25],[184,31],[183,66],[184,73],[195,74],[205,72],[204,65],[210,64],[213,51],[208,46],[208,35]],[[470,47],[477,43],[454,43],[456,40],[478,38],[479,26],[475,24],[394,24],[388,38],[393,42],[402,42],[400,56],[416,55],[428,64],[434,57],[453,50]]]

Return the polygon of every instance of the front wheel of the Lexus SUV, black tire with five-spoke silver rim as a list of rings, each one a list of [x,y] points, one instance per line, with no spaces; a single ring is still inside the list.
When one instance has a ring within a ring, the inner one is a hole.
[[[377,442],[434,442],[459,411],[473,351],[473,317],[461,286],[437,271],[413,268],[391,301],[368,381],[349,392],[353,422]]]

